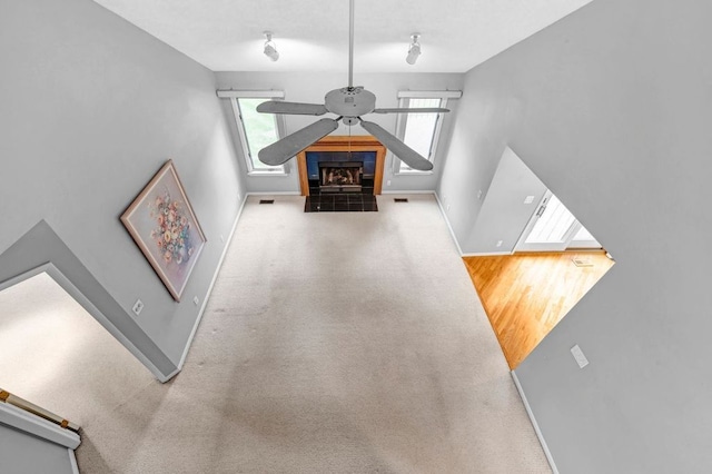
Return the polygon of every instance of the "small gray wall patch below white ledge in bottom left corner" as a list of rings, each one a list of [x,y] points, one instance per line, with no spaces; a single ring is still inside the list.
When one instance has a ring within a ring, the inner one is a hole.
[[[71,474],[65,446],[0,423],[0,472],[6,474]]]

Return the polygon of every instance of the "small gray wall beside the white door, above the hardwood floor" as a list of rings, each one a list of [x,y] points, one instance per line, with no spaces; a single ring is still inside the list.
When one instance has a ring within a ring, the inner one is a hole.
[[[546,192],[546,186],[510,148],[504,149],[500,165],[478,200],[482,208],[477,221],[462,244],[465,254],[512,253],[522,230]],[[530,204],[524,200],[534,196]],[[497,247],[497,243],[502,245]]]

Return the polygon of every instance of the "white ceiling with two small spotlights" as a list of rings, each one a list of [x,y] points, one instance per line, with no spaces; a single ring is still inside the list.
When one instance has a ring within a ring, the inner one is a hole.
[[[348,0],[95,1],[214,71],[348,70]],[[465,72],[590,1],[355,0],[354,70]],[[413,32],[423,53],[409,66]]]

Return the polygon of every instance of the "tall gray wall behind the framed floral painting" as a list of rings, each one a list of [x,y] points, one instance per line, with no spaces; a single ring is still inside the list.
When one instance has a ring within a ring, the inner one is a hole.
[[[44,219],[178,364],[245,195],[215,75],[89,0],[4,2],[0,63],[0,254]],[[119,221],[169,158],[208,239],[180,304]]]

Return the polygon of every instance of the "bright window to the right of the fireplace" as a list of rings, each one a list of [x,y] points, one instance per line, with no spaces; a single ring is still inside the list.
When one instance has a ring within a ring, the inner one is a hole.
[[[458,98],[461,91],[403,91],[398,92],[398,107],[405,108],[433,108],[447,105],[448,98]],[[437,141],[441,134],[444,113],[400,113],[396,122],[398,138],[408,147],[434,161]],[[418,171],[394,157],[395,174],[431,174],[432,171]]]

